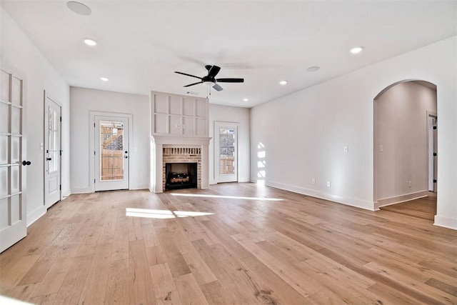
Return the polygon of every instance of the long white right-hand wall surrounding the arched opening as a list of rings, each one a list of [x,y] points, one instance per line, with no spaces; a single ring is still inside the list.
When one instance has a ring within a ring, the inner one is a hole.
[[[266,184],[376,209],[373,99],[398,81],[426,80],[436,84],[438,99],[435,224],[457,229],[456,46],[457,37],[453,36],[254,107],[251,179],[257,179],[257,145],[262,143]],[[346,145],[347,153],[343,152]],[[313,178],[316,184],[311,184]],[[331,181],[331,187],[326,181]]]

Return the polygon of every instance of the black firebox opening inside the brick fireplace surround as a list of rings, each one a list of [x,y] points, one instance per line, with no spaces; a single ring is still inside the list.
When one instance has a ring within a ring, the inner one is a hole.
[[[166,163],[165,189],[196,189],[197,164],[196,163]]]

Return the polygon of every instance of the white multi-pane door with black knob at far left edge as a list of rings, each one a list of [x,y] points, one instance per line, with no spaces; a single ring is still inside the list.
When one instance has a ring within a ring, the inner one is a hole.
[[[24,78],[0,67],[0,252],[27,235]]]

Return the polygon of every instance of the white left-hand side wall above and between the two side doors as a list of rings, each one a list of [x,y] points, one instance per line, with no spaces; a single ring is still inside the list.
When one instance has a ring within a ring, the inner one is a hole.
[[[27,225],[46,213],[44,209],[44,90],[62,106],[62,194],[70,193],[69,85],[44,58],[29,37],[0,6],[1,61],[26,76],[26,141],[31,166],[26,167]]]

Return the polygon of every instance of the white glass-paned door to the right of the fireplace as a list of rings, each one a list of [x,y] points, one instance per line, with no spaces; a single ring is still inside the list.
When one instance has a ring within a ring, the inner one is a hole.
[[[219,122],[214,127],[217,182],[236,182],[238,181],[238,126]]]

